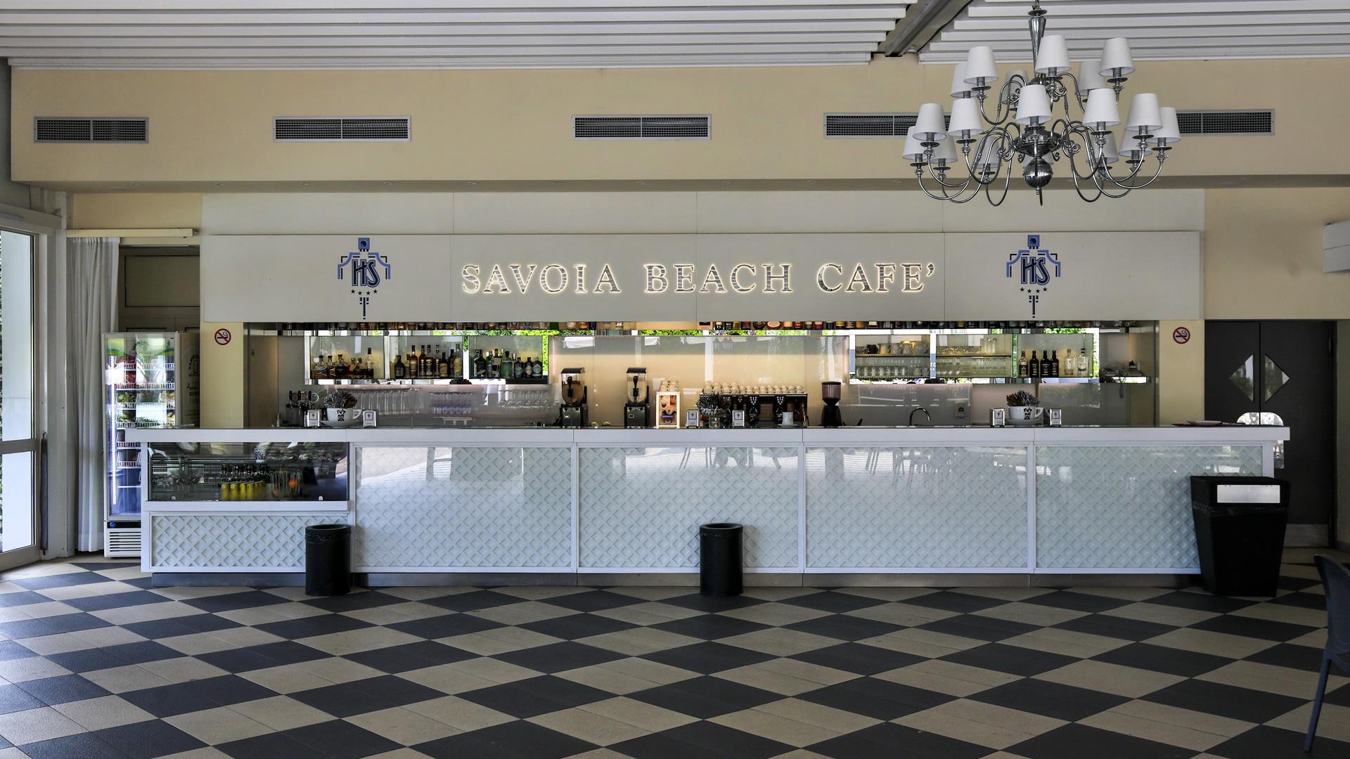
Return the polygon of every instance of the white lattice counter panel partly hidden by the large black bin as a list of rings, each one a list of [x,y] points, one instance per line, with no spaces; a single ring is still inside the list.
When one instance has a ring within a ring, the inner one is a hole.
[[[1261,474],[1260,446],[1035,448],[1037,566],[1193,569],[1192,474]]]

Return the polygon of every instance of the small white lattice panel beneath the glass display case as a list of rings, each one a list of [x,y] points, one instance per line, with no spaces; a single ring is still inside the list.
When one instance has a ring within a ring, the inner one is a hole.
[[[150,517],[157,567],[305,569],[305,527],[348,515],[163,515]],[[354,531],[359,535],[359,531]]]

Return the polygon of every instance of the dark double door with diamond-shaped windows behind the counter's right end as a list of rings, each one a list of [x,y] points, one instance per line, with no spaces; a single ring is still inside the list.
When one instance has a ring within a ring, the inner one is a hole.
[[[1289,523],[1328,524],[1335,498],[1335,375],[1328,321],[1207,321],[1204,416],[1274,413],[1289,428]]]

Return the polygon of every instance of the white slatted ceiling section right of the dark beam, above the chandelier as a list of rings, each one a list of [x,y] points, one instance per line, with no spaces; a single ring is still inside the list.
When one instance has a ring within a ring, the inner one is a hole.
[[[976,45],[1029,62],[1030,0],[973,0],[919,53],[954,63]],[[1350,55],[1350,0],[1041,0],[1046,34],[1068,39],[1075,59],[1126,36],[1135,59],[1331,58]]]

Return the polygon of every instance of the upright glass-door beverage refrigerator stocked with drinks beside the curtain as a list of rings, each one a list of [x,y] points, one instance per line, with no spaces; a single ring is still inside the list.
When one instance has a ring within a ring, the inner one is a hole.
[[[107,488],[105,556],[140,555],[140,447],[126,431],[196,427],[201,394],[197,332],[108,332],[103,336]]]

